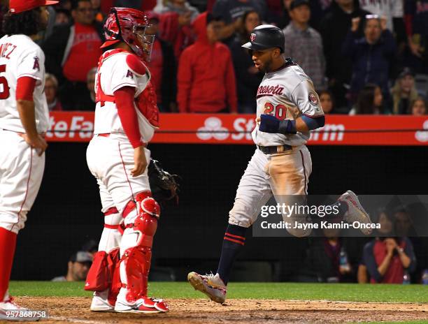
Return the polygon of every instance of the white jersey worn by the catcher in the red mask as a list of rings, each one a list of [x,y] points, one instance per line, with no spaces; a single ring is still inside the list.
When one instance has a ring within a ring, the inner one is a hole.
[[[122,87],[135,87],[135,98],[143,92],[150,80],[150,72],[146,70],[144,75],[138,75],[131,71],[127,64],[127,55],[130,55],[129,52],[117,52],[104,59],[99,71],[97,71],[97,75],[95,75],[95,91],[97,91],[99,80],[101,89],[108,96],[114,96],[114,92]],[[149,142],[155,133],[155,127],[148,122],[137,108],[135,109],[143,141]],[[124,133],[115,103],[106,101],[104,106],[101,106],[100,102],[97,103],[94,134],[102,133]]]

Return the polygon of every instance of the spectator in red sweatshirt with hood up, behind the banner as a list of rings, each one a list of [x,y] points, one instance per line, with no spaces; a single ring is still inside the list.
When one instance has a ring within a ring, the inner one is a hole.
[[[178,64],[180,112],[237,112],[231,54],[218,41],[220,22],[202,13],[193,23],[197,41],[181,54]]]

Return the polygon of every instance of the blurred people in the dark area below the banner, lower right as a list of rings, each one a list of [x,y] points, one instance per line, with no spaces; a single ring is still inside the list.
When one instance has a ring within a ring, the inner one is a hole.
[[[304,266],[295,281],[428,284],[428,240],[421,205],[378,209],[375,238],[341,237],[324,229],[308,241]]]

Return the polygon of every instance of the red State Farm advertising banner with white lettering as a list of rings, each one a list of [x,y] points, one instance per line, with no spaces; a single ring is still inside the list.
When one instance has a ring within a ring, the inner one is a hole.
[[[161,114],[154,143],[250,144],[254,115]],[[51,142],[88,142],[94,112],[51,112]],[[428,117],[328,115],[309,145],[428,145]]]

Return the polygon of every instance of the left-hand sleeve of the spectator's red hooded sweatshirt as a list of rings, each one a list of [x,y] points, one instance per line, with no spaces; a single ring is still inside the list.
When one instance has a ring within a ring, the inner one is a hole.
[[[177,103],[180,112],[189,111],[190,88],[192,87],[192,66],[189,51],[183,52],[178,63],[177,73]]]

